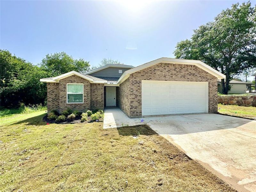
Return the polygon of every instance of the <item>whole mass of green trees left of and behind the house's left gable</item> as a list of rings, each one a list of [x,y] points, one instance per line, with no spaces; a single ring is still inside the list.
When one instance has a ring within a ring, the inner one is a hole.
[[[65,52],[48,54],[38,66],[0,50],[0,95],[1,106],[17,107],[22,102],[45,104],[46,83],[41,78],[58,76],[75,70],[83,73],[90,68],[84,59],[75,60]]]

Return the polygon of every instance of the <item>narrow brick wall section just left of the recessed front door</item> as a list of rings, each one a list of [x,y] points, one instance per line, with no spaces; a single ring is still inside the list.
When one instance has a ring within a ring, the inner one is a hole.
[[[91,109],[104,109],[104,84],[91,84]]]

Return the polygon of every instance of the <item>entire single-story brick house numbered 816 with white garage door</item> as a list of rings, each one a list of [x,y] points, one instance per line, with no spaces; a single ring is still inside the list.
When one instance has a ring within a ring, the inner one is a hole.
[[[117,106],[129,117],[217,112],[217,70],[198,60],[160,58],[133,68],[106,65],[40,79],[47,82],[47,108]]]

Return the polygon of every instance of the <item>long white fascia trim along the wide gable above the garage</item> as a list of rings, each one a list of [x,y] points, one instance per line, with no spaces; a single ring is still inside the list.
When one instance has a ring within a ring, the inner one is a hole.
[[[123,75],[118,79],[117,83],[121,84],[124,82],[125,79],[127,79],[130,74],[135,73],[137,71],[140,71],[142,69],[151,67],[153,65],[156,65],[158,63],[174,63],[174,64],[184,64],[184,65],[196,65],[199,68],[202,68],[206,72],[212,74],[213,76],[216,76],[218,79],[224,79],[226,78],[225,75],[220,73],[219,71],[215,70],[214,68],[206,65],[202,61],[199,60],[186,60],[186,59],[173,59],[173,58],[167,58],[167,57],[162,57],[153,61],[150,61],[148,63],[145,63],[143,65],[140,65],[138,67],[129,69],[123,73]]]

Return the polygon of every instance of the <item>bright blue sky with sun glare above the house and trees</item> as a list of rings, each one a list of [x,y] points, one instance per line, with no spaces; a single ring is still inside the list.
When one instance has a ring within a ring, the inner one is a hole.
[[[92,66],[102,58],[138,66],[174,57],[177,42],[237,1],[148,2],[1,1],[0,47],[33,64],[64,51]]]

